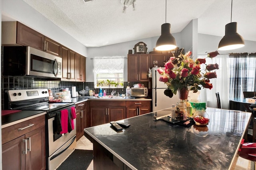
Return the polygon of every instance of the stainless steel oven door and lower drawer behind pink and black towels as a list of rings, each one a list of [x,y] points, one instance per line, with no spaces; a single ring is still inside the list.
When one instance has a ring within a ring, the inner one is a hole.
[[[57,134],[54,129],[55,116],[48,119],[48,167],[55,169],[76,147],[76,119],[74,130]]]

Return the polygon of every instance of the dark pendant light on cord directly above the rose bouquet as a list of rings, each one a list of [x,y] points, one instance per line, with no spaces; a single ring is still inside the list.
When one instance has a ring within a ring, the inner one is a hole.
[[[170,33],[171,24],[166,23],[166,0],[165,0],[165,24],[161,26],[161,36],[158,38],[156,42],[156,50],[159,51],[168,51],[175,49],[176,40]]]

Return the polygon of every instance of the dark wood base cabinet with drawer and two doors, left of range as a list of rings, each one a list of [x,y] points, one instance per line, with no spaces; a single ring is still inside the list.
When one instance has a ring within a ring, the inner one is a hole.
[[[2,128],[3,170],[45,170],[45,115]]]

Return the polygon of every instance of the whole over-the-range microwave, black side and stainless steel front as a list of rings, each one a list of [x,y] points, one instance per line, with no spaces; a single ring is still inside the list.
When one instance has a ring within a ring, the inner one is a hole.
[[[29,46],[3,47],[3,74],[62,77],[62,58]]]

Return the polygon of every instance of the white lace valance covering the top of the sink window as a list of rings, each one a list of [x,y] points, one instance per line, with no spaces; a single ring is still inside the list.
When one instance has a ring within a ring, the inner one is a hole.
[[[94,57],[94,73],[123,73],[124,57]]]

